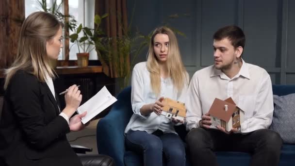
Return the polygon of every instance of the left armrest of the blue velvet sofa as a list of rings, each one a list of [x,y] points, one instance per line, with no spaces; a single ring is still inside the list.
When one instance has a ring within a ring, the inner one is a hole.
[[[101,118],[97,125],[98,153],[111,156],[116,166],[124,166],[124,131],[133,114],[130,99],[129,86],[120,92],[109,114]]]

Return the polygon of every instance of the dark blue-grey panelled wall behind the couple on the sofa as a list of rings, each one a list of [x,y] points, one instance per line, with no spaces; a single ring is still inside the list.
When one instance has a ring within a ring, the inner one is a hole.
[[[234,24],[246,34],[247,63],[265,68],[273,84],[295,84],[295,0],[128,0],[129,16],[135,1],[134,32],[148,34],[168,22],[186,34],[178,40],[190,77],[213,64],[213,33]],[[175,14],[189,16],[167,19]],[[146,52],[136,62],[145,61]]]

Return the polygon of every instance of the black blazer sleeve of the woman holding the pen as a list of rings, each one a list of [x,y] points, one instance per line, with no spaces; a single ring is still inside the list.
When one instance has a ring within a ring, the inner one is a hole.
[[[8,87],[16,123],[25,135],[25,140],[35,149],[45,149],[61,134],[69,132],[66,120],[56,116],[45,124],[42,111],[40,83],[29,73],[16,73]],[[55,110],[52,110],[55,111]]]

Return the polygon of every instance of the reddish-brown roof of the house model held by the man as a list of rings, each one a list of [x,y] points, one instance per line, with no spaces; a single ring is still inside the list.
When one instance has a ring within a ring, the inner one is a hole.
[[[225,105],[227,105],[228,111],[226,111]],[[231,98],[227,100],[220,100],[215,98],[209,110],[209,114],[210,116],[214,116],[228,122],[233,112],[236,111],[237,108],[238,107],[235,105],[234,101]]]

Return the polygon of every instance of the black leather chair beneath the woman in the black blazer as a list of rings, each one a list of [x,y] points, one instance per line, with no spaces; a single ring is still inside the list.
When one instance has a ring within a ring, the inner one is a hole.
[[[3,97],[0,96],[0,117],[2,113],[3,107]],[[87,151],[92,151],[91,148],[79,146],[79,145],[71,145],[77,155],[80,157],[83,166],[115,166],[115,161],[106,155],[100,154],[86,154]],[[0,166],[3,166],[2,159],[0,158]]]

